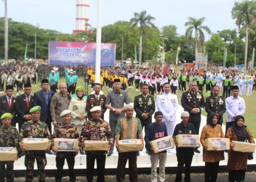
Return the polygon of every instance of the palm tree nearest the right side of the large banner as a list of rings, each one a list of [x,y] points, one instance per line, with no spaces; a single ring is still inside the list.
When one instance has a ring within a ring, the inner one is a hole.
[[[142,34],[146,33],[146,29],[148,27],[154,27],[155,25],[151,22],[155,20],[153,16],[146,15],[147,11],[143,10],[140,13],[134,13],[134,17],[130,20],[131,30],[136,27],[136,25],[140,25],[140,46],[139,46],[139,66],[141,66],[141,58],[142,58]]]

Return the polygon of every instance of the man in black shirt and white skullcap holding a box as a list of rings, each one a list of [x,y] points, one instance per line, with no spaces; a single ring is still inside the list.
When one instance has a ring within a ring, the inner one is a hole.
[[[179,134],[196,134],[195,126],[189,123],[189,113],[187,111],[181,112],[181,123],[177,124],[173,131],[173,140],[176,145],[176,156],[178,161],[178,168],[176,173],[175,182],[182,181],[182,170],[185,165],[185,181],[191,181],[190,179],[190,167],[192,163],[192,158],[194,155],[193,148],[179,148],[176,142],[176,135]]]

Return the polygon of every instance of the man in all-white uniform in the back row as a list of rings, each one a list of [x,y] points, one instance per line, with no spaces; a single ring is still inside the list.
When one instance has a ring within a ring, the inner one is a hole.
[[[177,95],[170,93],[170,84],[163,84],[163,94],[157,96],[157,109],[163,113],[162,122],[166,124],[168,135],[173,135],[174,124],[176,120],[176,111],[178,110]],[[171,152],[171,149],[167,150]],[[175,149],[172,150],[175,154]]]

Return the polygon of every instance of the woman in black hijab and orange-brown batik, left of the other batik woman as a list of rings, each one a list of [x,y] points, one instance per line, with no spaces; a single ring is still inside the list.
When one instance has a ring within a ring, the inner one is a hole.
[[[212,112],[208,115],[207,124],[203,127],[200,137],[200,142],[203,146],[204,179],[206,182],[215,182],[217,180],[219,161],[224,160],[224,151],[209,151],[205,143],[207,138],[225,138],[222,127],[217,122],[217,114]]]

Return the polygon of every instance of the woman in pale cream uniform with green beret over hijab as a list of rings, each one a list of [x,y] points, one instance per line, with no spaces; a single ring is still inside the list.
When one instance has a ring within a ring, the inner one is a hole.
[[[70,100],[68,110],[71,110],[71,120],[70,123],[76,124],[79,135],[81,135],[84,122],[86,122],[86,98],[84,98],[83,93],[84,87],[76,88],[76,97]],[[82,148],[80,149],[80,154],[84,155]]]

